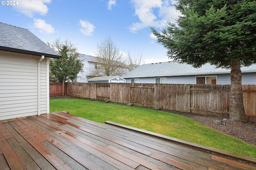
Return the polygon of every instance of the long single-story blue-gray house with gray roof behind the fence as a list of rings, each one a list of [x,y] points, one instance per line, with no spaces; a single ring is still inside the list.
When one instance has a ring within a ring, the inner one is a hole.
[[[256,84],[256,65],[241,67],[242,84]],[[140,65],[122,75],[126,83],[230,84],[230,69],[205,64],[200,68],[168,61]]]

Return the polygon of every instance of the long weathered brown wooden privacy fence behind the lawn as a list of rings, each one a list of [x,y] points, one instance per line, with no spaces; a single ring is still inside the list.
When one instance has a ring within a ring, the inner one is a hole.
[[[243,85],[243,93],[246,116],[256,120],[256,86]],[[188,113],[229,116],[230,85],[67,83],[66,94]]]

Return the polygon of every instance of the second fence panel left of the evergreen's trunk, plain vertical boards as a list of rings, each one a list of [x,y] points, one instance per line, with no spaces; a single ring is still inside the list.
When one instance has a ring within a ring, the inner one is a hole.
[[[155,84],[155,107],[190,112],[190,85]]]

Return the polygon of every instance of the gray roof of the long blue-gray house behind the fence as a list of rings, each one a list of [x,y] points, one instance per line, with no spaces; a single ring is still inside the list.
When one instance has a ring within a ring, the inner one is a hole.
[[[256,72],[256,64],[250,67],[241,67],[242,73]],[[205,64],[200,68],[192,65],[181,64],[174,61],[143,64],[136,69],[122,75],[123,78],[134,77],[163,77],[180,75],[206,75],[230,73],[230,69],[216,68],[214,65]]]

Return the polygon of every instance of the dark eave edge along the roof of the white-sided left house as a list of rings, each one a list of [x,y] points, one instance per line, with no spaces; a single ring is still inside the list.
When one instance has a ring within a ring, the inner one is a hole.
[[[50,58],[61,58],[62,57],[61,55],[40,53],[40,52],[36,52],[36,51],[28,51],[28,50],[24,50],[24,49],[16,49],[16,48],[11,48],[11,47],[4,47],[4,46],[0,46],[0,50],[25,53],[25,54],[31,54],[31,55],[39,55],[39,56],[44,55],[45,57],[50,57]]]

